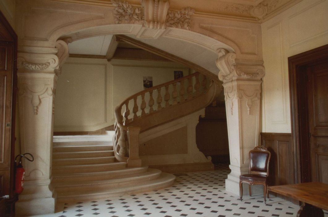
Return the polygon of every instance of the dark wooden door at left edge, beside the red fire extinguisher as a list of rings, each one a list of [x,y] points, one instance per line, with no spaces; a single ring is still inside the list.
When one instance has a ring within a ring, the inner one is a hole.
[[[0,216],[13,216],[17,36],[0,12]],[[5,207],[4,207],[5,206]]]

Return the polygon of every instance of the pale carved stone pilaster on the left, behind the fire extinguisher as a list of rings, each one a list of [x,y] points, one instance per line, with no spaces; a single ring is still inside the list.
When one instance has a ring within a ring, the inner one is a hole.
[[[68,54],[67,44],[57,48],[21,47],[17,57],[18,108],[21,152],[34,161],[23,161],[24,191],[16,203],[18,215],[53,213],[55,193],[51,182],[54,98],[57,74]]]

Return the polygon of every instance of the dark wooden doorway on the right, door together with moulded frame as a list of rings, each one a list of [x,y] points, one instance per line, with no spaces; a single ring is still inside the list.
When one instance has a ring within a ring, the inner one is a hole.
[[[296,180],[328,183],[328,45],[288,58]]]

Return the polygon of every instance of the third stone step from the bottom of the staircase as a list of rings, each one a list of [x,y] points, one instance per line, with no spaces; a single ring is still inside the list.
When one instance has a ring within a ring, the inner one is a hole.
[[[83,181],[100,181],[100,180],[109,180],[109,179],[118,179],[129,176],[138,176],[139,174],[147,172],[148,167],[131,167],[124,168],[121,170],[113,171],[104,171],[104,172],[90,172],[90,173],[79,173],[75,171],[73,174],[61,174],[54,175],[52,177],[51,183],[57,182],[79,182]]]

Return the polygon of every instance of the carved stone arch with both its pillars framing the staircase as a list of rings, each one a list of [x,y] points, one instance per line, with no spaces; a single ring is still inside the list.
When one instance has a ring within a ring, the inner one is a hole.
[[[171,27],[150,29],[141,24],[115,24],[113,7],[109,5],[78,5],[77,9],[75,6],[74,3],[52,1],[26,1],[17,5],[20,16],[17,19],[22,20],[16,28],[19,36],[17,74],[22,152],[33,153],[36,158],[33,165],[25,165],[25,168],[40,171],[33,177],[26,177],[26,192],[38,194],[28,195],[28,202],[18,203],[17,207],[26,209],[34,205],[45,207],[46,212],[54,211],[55,199],[49,189],[53,99],[60,65],[68,56],[67,44],[60,39],[71,37],[75,40],[109,33],[187,41],[217,55],[215,63],[225,92],[232,170],[226,181],[226,190],[239,194],[239,175],[247,172],[248,151],[258,144],[260,84],[264,68],[260,45],[257,45],[260,37],[256,34],[253,37],[252,28],[260,34],[260,27],[252,24],[246,30],[235,28],[239,32],[250,32],[255,45],[249,51],[247,46],[243,48],[240,45],[242,40],[236,42],[230,37],[238,32],[230,29],[232,33],[220,32],[222,25],[229,28],[233,21],[219,26],[215,24],[216,18],[196,17],[191,30]],[[24,194],[20,197],[24,198]]]

